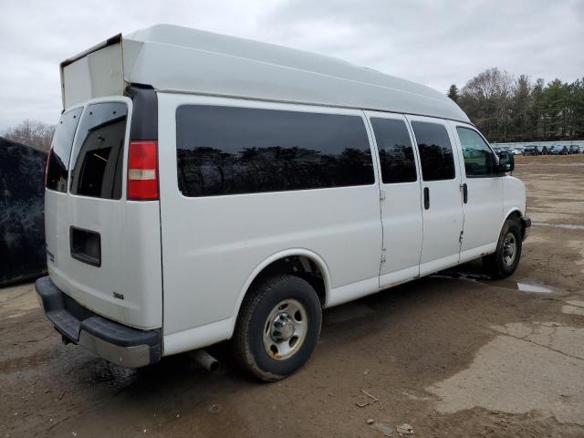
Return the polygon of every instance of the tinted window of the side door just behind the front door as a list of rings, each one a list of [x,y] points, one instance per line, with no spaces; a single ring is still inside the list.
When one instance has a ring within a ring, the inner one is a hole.
[[[423,181],[454,179],[453,146],[444,125],[412,121],[412,128],[420,151]]]

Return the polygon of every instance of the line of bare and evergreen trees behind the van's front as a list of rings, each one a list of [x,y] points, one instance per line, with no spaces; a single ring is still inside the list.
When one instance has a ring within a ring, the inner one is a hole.
[[[489,68],[447,92],[488,141],[584,139],[584,78],[535,82]]]

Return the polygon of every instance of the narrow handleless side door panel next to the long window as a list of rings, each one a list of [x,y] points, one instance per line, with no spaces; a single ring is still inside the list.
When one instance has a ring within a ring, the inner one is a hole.
[[[380,287],[420,275],[422,189],[412,134],[401,114],[366,111],[381,178]]]

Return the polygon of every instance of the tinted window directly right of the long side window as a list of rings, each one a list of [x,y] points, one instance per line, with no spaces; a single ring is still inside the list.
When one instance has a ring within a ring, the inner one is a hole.
[[[403,120],[371,119],[380,152],[383,183],[410,183],[417,180],[412,141]]]

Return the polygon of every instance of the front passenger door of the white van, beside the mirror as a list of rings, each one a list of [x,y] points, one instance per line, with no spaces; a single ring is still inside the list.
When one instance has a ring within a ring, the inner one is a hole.
[[[463,173],[464,233],[461,262],[492,253],[503,221],[503,180],[495,152],[470,125],[451,122]]]

